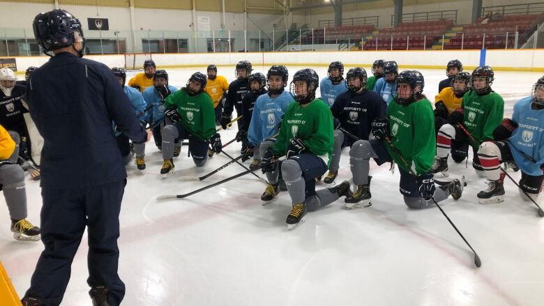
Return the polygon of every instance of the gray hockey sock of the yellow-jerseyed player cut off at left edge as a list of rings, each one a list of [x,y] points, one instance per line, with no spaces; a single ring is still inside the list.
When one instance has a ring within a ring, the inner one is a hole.
[[[15,150],[11,154],[10,162],[13,165],[0,166],[0,185],[3,190],[3,197],[6,198],[10,217],[20,220],[27,217],[27,192],[24,185],[24,171],[16,164],[19,157],[20,137],[17,132],[8,131],[15,141]]]

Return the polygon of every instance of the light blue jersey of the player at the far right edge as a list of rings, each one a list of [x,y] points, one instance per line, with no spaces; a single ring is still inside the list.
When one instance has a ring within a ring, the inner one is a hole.
[[[517,123],[517,128],[508,138],[508,146],[517,167],[525,174],[541,176],[541,165],[544,164],[544,109],[531,109],[532,102],[533,99],[527,97],[515,103],[512,120]],[[525,158],[520,151],[534,158],[536,163]]]

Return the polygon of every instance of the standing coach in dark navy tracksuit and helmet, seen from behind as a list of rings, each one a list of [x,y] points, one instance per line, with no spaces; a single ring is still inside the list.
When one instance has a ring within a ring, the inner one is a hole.
[[[66,10],[40,13],[34,35],[54,56],[33,72],[30,114],[45,143],[41,156],[42,252],[23,305],[59,305],[85,226],[93,305],[119,305],[119,211],[126,170],[112,121],[135,143],[149,140],[114,74],[82,59],[81,24]]]

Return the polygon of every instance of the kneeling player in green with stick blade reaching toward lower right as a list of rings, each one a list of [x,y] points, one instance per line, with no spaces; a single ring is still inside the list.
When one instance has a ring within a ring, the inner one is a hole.
[[[435,188],[430,172],[435,155],[434,116],[429,100],[422,94],[424,80],[418,71],[406,70],[397,77],[397,89],[388,105],[386,118],[372,122],[376,139],[356,141],[349,151],[353,183],[357,190],[345,199],[348,209],[371,205],[369,161],[374,158],[378,165],[395,162],[400,168],[400,193],[409,208],[427,208],[448,198],[459,199],[464,178]],[[386,141],[396,148],[393,148]],[[411,165],[410,169],[405,167]],[[414,176],[416,174],[416,176]]]

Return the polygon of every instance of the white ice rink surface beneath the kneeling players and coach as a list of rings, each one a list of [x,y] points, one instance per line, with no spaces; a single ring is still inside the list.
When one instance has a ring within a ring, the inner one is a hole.
[[[254,68],[266,74],[269,67]],[[288,68],[290,82],[305,67]],[[178,88],[192,72],[205,70],[167,69],[170,84]],[[326,67],[315,70],[320,78],[326,76]],[[434,102],[445,70],[421,72],[424,93]],[[231,82],[234,67],[219,67],[218,75]],[[495,72],[492,88],[504,97],[505,117],[539,77],[536,72]],[[220,132],[223,143],[235,134],[236,128]],[[225,148],[232,157],[239,150],[239,143]],[[351,178],[348,153],[348,148],[342,152],[337,183]],[[544,305],[544,219],[534,204],[520,199],[508,178],[505,201],[481,205],[476,193],[487,188],[485,179],[476,176],[470,162],[467,168],[449,161],[451,174],[466,176],[468,186],[460,200],[447,199],[441,206],[481,257],[482,266],[476,268],[474,254],[438,208],[405,206],[398,171],[391,174],[388,164],[370,164],[370,208],[347,211],[340,199],[308,213],[292,231],[285,225],[289,194],[280,192],[276,201],[262,206],[265,184],[252,175],[186,199],[156,201],[159,195],[187,193],[244,171],[234,164],[202,182],[177,180],[202,176],[229,160],[215,155],[197,169],[183,146],[174,158],[176,174],[162,179],[162,155],[150,141],[143,174],[130,162],[120,217],[123,305]],[[519,180],[520,172],[510,174]],[[39,225],[39,183],[28,176],[27,197],[29,220]],[[14,240],[3,197],[0,202],[0,260],[23,296],[43,245]],[[544,204],[542,197],[538,203]],[[61,305],[91,305],[86,242],[73,261]]]

